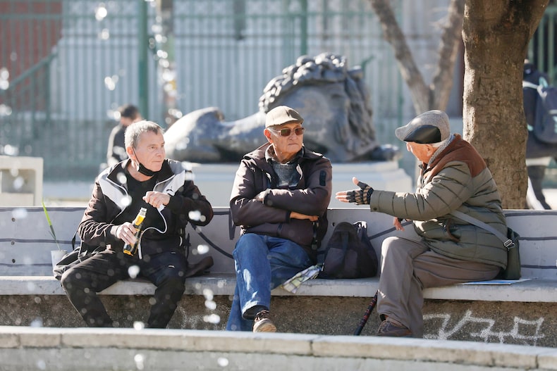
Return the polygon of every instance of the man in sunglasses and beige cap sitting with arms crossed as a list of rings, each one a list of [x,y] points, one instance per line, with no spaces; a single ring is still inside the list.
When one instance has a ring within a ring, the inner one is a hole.
[[[303,145],[303,119],[287,106],[267,113],[267,143],[247,153],[230,200],[242,235],[233,251],[236,289],[226,329],[275,332],[271,289],[316,263],[332,193],[331,162]]]

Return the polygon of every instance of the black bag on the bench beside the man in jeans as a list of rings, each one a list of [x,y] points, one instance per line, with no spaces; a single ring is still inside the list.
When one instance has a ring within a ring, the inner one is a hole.
[[[367,237],[367,223],[340,222],[324,249],[319,278],[365,278],[377,275],[379,262]]]

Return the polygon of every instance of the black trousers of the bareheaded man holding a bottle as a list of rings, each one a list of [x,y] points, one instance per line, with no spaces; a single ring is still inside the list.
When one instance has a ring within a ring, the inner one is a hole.
[[[147,327],[164,328],[183,296],[186,265],[183,253],[176,251],[144,256],[141,260],[121,251],[106,250],[64,272],[61,284],[87,326],[112,327],[113,321],[97,293],[130,278],[130,272],[133,274],[137,266],[137,278],[146,278],[157,287],[154,300],[149,301]]]

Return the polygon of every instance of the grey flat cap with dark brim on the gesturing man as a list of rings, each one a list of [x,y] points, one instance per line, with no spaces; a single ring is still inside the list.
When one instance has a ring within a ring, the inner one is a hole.
[[[431,144],[443,142],[451,135],[448,115],[443,111],[427,111],[413,118],[408,124],[397,127],[395,135],[404,142]]]

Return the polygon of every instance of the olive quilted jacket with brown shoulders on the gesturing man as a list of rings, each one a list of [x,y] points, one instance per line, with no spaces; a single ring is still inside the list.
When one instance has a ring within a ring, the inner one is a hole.
[[[495,181],[482,156],[459,134],[423,170],[415,193],[375,190],[372,211],[413,220],[414,228],[436,253],[463,260],[507,265],[502,242],[453,215],[459,210],[506,234],[506,219]]]

